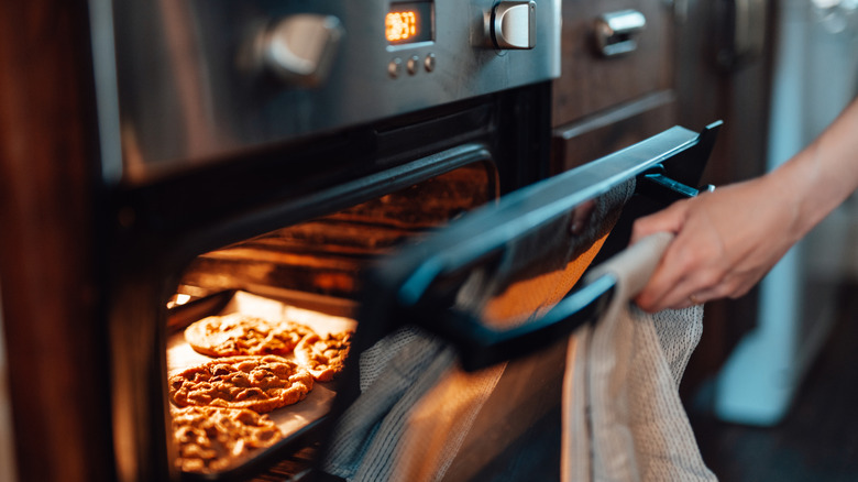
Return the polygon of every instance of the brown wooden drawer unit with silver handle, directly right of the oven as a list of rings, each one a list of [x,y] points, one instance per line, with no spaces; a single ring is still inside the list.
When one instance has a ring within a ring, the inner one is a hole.
[[[601,52],[596,22],[634,10],[646,25]],[[561,77],[553,85],[552,168],[562,172],[676,123],[673,7],[663,0],[564,0]]]

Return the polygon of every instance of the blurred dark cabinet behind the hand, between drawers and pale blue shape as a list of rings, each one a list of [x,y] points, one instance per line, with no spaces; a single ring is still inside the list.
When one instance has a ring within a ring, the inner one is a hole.
[[[724,10],[726,0],[688,0],[684,22],[678,24],[676,95],[678,121],[704,125],[721,119],[712,157],[703,183],[722,186],[758,176],[766,171],[768,117],[772,63],[772,19],[774,2],[766,2],[767,42],[760,55],[740,64],[721,65],[718,41],[729,29]],[[715,375],[738,340],[756,324],[758,291],[739,299],[706,304],[703,338],[692,355],[683,379],[682,394],[691,397],[700,384]]]

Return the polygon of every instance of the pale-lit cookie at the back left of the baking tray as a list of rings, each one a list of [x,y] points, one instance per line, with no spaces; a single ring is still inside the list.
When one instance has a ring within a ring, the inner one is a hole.
[[[292,321],[268,321],[233,313],[210,316],[185,329],[190,347],[209,357],[239,354],[289,354],[301,338],[312,333],[309,327]]]

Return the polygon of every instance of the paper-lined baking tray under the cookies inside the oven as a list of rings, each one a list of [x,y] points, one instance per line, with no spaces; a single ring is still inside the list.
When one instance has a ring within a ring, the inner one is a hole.
[[[212,357],[194,351],[185,340],[184,328],[207,316],[243,313],[272,321],[288,319],[312,328],[320,336],[345,330],[353,331],[358,327],[358,322],[351,318],[300,308],[242,291],[219,293],[208,298],[195,300],[187,306],[176,307],[170,311],[168,317],[170,333],[167,338],[168,376],[186,368],[215,360]],[[293,357],[285,358],[292,359]],[[253,472],[265,469],[277,456],[290,449],[296,450],[298,447],[294,447],[295,442],[322,423],[337,395],[336,385],[336,380],[316,382],[302,401],[268,413],[268,417],[283,432],[283,439],[277,443],[249,456],[246,460],[238,462],[230,469],[210,473],[182,472],[182,479],[188,481],[243,480]],[[172,403],[169,407],[170,412],[178,408]]]

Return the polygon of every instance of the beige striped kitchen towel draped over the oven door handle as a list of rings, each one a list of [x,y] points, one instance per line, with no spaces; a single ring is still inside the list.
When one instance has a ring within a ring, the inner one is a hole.
[[[679,397],[703,306],[644,313],[644,287],[672,234],[648,237],[587,274],[614,276],[605,315],[570,338],[563,386],[564,482],[714,481]]]

